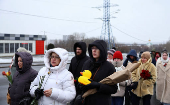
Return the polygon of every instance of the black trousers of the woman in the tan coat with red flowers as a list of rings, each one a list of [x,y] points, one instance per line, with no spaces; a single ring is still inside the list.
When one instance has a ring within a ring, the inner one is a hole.
[[[143,96],[143,105],[150,105],[152,95],[145,95]],[[131,102],[132,105],[139,105],[141,97],[138,97],[136,94],[131,92]]]

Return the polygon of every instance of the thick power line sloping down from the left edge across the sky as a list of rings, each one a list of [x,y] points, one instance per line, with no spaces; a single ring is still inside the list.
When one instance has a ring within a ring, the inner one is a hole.
[[[96,23],[96,22],[86,22],[86,21],[75,21],[75,20],[57,19],[57,18],[53,18],[53,17],[46,17],[46,16],[40,16],[40,15],[32,15],[32,14],[20,13],[20,12],[3,10],[3,9],[0,9],[0,11],[10,12],[10,13],[16,13],[16,14],[20,14],[20,15],[27,15],[27,16],[34,16],[34,17],[46,18],[46,19],[54,19],[54,20],[60,20],[60,21],[71,21],[71,22],[80,22],[80,23]]]

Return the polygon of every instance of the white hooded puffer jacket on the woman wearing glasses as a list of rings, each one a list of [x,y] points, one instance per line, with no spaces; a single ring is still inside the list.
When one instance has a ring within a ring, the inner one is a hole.
[[[59,55],[61,62],[58,66],[50,67],[50,53]],[[44,56],[45,67],[43,67],[35,80],[31,83],[30,94],[35,97],[34,92],[39,87],[40,76],[44,76],[41,89],[52,88],[50,97],[42,96],[38,105],[66,105],[73,100],[76,95],[73,75],[66,69],[68,52],[62,48],[50,49]],[[51,72],[48,74],[48,72]]]

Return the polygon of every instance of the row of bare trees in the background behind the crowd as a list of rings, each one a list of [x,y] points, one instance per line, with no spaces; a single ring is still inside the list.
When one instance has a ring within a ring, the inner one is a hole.
[[[83,41],[87,44],[87,46],[94,42],[95,40],[99,40],[99,38],[96,37],[90,37],[86,38],[85,33],[73,33],[72,35],[67,36],[67,40],[55,40],[54,46],[55,47],[62,47],[67,49],[68,51],[73,51],[73,46],[78,41]],[[108,41],[106,40],[106,43]],[[117,50],[121,51],[122,53],[128,53],[131,49],[135,49],[138,53],[140,51],[151,51],[152,49],[155,49],[156,51],[161,52],[163,49],[166,49],[168,52],[170,51],[170,40],[166,44],[153,44],[150,47],[148,47],[146,44],[122,44],[117,43],[116,38],[114,38],[115,47]],[[113,46],[113,41],[111,41],[111,45]]]

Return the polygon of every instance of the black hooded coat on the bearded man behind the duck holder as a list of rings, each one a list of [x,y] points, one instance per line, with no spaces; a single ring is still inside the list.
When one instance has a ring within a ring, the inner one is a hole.
[[[82,50],[82,53],[78,56],[76,55],[76,48],[79,47]],[[85,42],[76,42],[74,44],[74,53],[75,56],[71,59],[69,71],[73,74],[76,86],[76,93],[79,94],[81,91],[77,88],[78,85],[78,77],[80,76],[80,72],[82,70],[83,64],[85,61],[89,59],[89,57],[86,55],[86,43]]]

